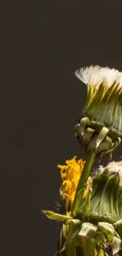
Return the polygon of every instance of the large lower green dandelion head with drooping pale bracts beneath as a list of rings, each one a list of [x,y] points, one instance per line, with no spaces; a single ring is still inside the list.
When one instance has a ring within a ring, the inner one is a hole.
[[[109,255],[104,253],[105,250],[113,251],[113,255],[121,255],[117,254],[122,244],[121,180],[122,161],[110,162],[105,167],[100,166],[93,179],[89,204],[87,205],[85,198],[80,202],[76,218],[83,224],[78,237],[81,237],[81,247],[87,255]],[[87,218],[86,207],[89,209]]]

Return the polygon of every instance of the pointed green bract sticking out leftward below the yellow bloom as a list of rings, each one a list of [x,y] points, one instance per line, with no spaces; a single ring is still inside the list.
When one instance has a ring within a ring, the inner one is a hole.
[[[50,220],[55,221],[67,221],[68,219],[72,219],[70,216],[61,215],[58,213],[54,213],[51,210],[42,210],[42,213],[46,215]]]

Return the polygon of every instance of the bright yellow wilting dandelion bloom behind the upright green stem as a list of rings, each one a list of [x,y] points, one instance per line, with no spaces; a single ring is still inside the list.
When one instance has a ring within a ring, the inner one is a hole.
[[[82,173],[85,161],[82,159],[76,160],[76,156],[71,160],[65,161],[66,165],[57,165],[61,169],[61,197],[65,202],[66,211],[70,211],[72,202],[76,195],[76,187],[79,183],[79,177]],[[87,182],[87,188],[84,191],[84,196],[87,195],[87,191],[91,186],[92,179],[89,177]]]

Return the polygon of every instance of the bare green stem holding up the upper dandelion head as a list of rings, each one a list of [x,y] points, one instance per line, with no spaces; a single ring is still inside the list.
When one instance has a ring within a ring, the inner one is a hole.
[[[87,179],[91,174],[91,169],[94,164],[95,155],[96,154],[94,153],[94,151],[90,151],[87,154],[86,162],[85,162],[83,171],[81,173],[81,176],[79,178],[79,184],[77,186],[76,195],[75,195],[74,202],[72,205],[73,216],[75,216],[75,214],[76,214],[76,211],[79,207],[79,202],[81,202],[81,200],[83,199],[83,193],[86,188]]]

